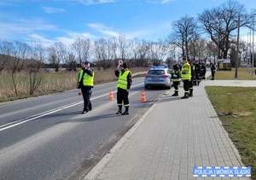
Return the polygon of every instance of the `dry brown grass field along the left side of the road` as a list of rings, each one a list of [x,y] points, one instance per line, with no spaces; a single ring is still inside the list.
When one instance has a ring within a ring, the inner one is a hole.
[[[148,68],[131,68],[132,73],[144,72],[147,70]],[[95,84],[102,84],[116,80],[117,78],[114,76],[113,71],[114,69],[108,69],[106,71],[95,70]],[[76,88],[79,71],[67,72],[65,70],[61,70],[59,73],[41,72],[39,75],[43,77],[43,82],[32,96],[40,96]],[[12,101],[30,96],[26,73],[17,74],[16,82],[18,96],[15,96],[14,86],[9,73],[1,73],[0,79],[0,102]]]

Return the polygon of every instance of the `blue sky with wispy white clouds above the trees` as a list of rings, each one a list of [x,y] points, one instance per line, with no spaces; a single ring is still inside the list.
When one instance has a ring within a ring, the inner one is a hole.
[[[256,9],[255,0],[239,2],[248,12]],[[221,3],[224,0],[1,0],[0,40],[36,39],[50,45],[125,35],[158,41],[172,32],[173,20],[196,17]]]

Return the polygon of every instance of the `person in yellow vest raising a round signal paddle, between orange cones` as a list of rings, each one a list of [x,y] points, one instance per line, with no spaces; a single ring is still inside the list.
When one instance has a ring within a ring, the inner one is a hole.
[[[114,74],[118,77],[117,87],[117,105],[119,111],[116,114],[129,114],[129,90],[131,88],[131,72],[127,69],[126,63],[123,63],[114,70]],[[122,107],[125,107],[125,112],[122,113]]]

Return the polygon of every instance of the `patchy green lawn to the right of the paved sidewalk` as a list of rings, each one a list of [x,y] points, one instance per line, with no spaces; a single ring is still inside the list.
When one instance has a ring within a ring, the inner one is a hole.
[[[231,80],[233,76],[234,72],[216,73],[216,79]],[[239,72],[238,77],[256,79],[247,72]],[[225,131],[241,154],[242,162],[252,167],[252,179],[256,180],[256,87],[207,86],[206,91]],[[232,94],[231,114],[228,109],[228,93]]]

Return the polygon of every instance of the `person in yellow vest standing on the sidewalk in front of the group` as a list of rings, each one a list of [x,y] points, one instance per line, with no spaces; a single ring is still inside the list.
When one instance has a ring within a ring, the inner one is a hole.
[[[191,79],[191,67],[186,58],[183,58],[181,77],[183,80],[183,89],[184,89],[184,96],[182,97],[182,99],[187,99],[189,98],[189,82]]]

